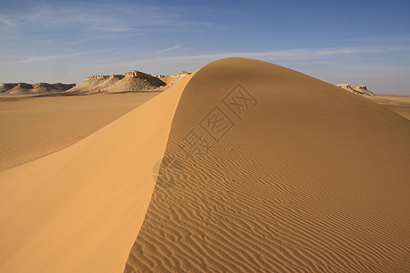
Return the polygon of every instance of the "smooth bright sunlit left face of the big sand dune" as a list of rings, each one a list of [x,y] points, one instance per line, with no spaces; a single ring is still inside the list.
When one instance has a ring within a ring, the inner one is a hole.
[[[188,81],[60,152],[0,173],[0,272],[120,272]]]

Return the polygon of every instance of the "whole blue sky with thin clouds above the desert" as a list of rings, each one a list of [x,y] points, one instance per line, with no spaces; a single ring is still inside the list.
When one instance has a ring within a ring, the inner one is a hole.
[[[0,82],[196,70],[227,56],[410,95],[410,1],[0,0]]]

